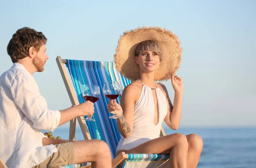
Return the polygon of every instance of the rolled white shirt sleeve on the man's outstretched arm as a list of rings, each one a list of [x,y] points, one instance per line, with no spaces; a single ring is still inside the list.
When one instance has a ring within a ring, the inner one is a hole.
[[[47,101],[40,94],[35,79],[28,73],[22,72],[18,78],[13,78],[9,88],[17,106],[37,129],[53,131],[60,123],[60,111],[49,110]]]

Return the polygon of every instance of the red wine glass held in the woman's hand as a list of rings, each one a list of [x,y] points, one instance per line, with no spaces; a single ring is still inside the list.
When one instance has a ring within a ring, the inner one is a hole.
[[[118,98],[121,92],[120,84],[117,81],[109,81],[104,84],[103,87],[104,95],[109,98],[110,100],[115,100]],[[116,119],[120,118],[116,116],[116,113],[112,116],[109,116],[108,118]]]

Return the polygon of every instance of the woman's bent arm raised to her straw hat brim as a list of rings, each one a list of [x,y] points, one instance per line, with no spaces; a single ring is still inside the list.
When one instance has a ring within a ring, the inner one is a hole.
[[[168,111],[164,121],[169,128],[177,130],[180,125],[181,111],[182,111],[182,94],[183,94],[183,83],[182,79],[178,76],[172,76],[172,86],[174,88],[174,102],[169,98],[168,91],[163,84],[160,84],[166,93],[166,101],[168,104]]]

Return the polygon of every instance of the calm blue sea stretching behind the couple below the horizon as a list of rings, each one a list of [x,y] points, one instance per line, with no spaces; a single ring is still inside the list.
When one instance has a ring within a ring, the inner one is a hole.
[[[198,168],[256,168],[256,127],[164,129],[166,134],[194,133],[202,137],[204,148]],[[69,128],[57,128],[52,134],[68,139]],[[79,127],[76,128],[76,140],[84,140]]]

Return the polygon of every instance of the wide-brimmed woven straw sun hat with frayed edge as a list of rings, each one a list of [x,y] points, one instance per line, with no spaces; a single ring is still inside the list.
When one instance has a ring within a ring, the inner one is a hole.
[[[155,72],[154,80],[163,81],[171,78],[180,67],[180,41],[171,31],[159,27],[143,27],[126,31],[118,40],[114,62],[116,69],[126,78],[135,81],[139,78],[139,65],[135,62],[135,50],[140,42],[152,40],[162,50],[162,61]]]

